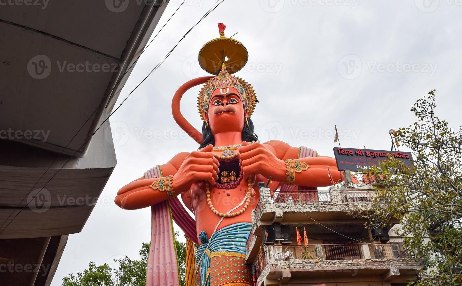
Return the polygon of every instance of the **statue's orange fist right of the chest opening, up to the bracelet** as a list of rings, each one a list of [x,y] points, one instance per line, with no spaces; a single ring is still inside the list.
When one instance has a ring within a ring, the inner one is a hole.
[[[242,147],[239,148],[239,161],[244,178],[249,174],[257,173],[267,178],[272,176],[272,179],[277,182],[286,180],[286,164],[263,144],[242,142]]]

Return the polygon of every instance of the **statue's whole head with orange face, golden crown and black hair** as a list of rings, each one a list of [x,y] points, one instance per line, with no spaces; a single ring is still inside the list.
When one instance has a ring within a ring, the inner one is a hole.
[[[242,140],[257,140],[249,119],[257,102],[252,86],[229,74],[223,64],[218,76],[210,79],[199,93],[204,137],[201,147],[214,144],[213,134],[225,132],[242,132]]]

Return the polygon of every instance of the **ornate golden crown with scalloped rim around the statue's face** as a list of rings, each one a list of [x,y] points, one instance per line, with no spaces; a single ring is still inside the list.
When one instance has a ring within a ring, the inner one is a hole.
[[[255,96],[255,91],[252,85],[249,85],[246,81],[241,78],[232,76],[226,70],[226,66],[223,63],[222,68],[218,76],[209,79],[207,83],[201,88],[199,97],[197,97],[199,113],[201,114],[202,120],[204,119],[204,112],[208,109],[210,97],[213,91],[217,88],[234,87],[239,92],[242,98],[244,109],[247,110],[248,117],[252,115],[255,110],[255,104],[258,102]]]

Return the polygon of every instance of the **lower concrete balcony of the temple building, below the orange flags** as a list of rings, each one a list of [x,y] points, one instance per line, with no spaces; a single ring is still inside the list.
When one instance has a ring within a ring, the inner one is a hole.
[[[415,280],[423,263],[402,243],[354,243],[263,246],[252,267],[258,286],[304,284],[307,279],[313,285],[389,286]]]

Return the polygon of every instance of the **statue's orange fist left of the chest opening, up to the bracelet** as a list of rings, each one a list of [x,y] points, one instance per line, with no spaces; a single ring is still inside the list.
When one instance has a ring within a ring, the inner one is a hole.
[[[175,174],[173,188],[180,193],[191,188],[195,181],[205,180],[212,186],[218,180],[218,160],[213,157],[213,146],[208,145],[201,151],[191,152]]]

